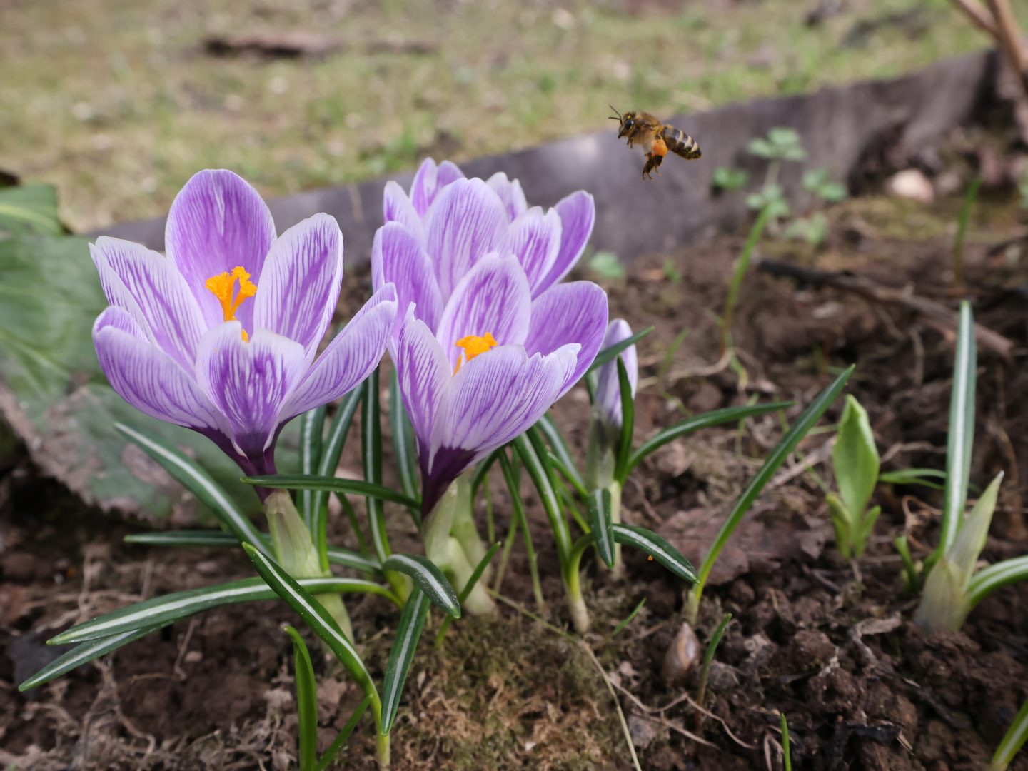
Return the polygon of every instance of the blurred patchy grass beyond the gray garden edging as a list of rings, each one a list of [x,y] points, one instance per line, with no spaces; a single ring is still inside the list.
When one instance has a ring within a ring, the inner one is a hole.
[[[810,5],[15,0],[0,27],[0,169],[58,184],[84,229],[162,213],[201,168],[285,194],[609,128],[608,103],[696,111],[986,42],[947,0],[864,0],[819,28],[803,23]],[[914,39],[886,25],[840,45],[854,24],[915,6],[926,28]],[[293,28],[345,45],[316,61],[203,49],[209,32]],[[389,41],[431,50],[376,51]]]

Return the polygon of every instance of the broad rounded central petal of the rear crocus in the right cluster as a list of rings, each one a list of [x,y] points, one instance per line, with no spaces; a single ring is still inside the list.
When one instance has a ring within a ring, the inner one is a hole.
[[[475,263],[495,249],[507,226],[503,201],[480,179],[443,188],[427,215],[426,247],[444,301]]]

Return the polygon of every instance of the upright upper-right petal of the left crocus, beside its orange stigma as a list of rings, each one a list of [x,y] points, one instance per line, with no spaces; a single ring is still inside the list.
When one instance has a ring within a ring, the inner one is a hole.
[[[342,233],[327,214],[298,222],[271,245],[256,279],[254,331],[267,329],[318,353],[339,299]]]

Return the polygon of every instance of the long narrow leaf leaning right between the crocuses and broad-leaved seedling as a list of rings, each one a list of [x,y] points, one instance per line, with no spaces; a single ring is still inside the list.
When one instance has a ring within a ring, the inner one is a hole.
[[[771,481],[771,477],[774,476],[774,473],[785,462],[790,453],[796,449],[800,440],[807,435],[807,432],[820,419],[824,411],[832,405],[832,402],[842,393],[852,373],[853,365],[850,365],[824,391],[818,394],[817,398],[810,403],[803,411],[803,414],[797,418],[793,427],[785,433],[785,436],[781,438],[781,441],[778,442],[778,445],[768,455],[760,471],[757,472],[757,476],[754,477],[742,495],[739,497],[735,508],[732,509],[732,512],[728,515],[728,519],[725,520],[721,529],[718,530],[713,544],[710,546],[710,550],[700,565],[699,579],[696,586],[689,593],[689,614],[694,621],[696,615],[699,613],[699,601],[703,595],[703,587],[710,575],[710,571],[713,570],[713,563],[718,561],[718,557],[721,555],[722,549],[725,548],[728,540],[735,533],[735,528],[739,526],[739,522],[746,515],[746,512],[749,511],[749,507],[754,505],[754,502],[761,494],[764,486]]]

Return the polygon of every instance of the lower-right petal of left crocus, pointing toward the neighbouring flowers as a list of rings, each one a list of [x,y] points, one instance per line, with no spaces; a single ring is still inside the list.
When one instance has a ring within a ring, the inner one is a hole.
[[[282,408],[285,423],[353,391],[378,366],[396,321],[396,289],[387,284],[340,330]]]

